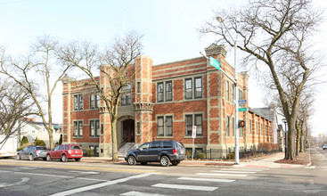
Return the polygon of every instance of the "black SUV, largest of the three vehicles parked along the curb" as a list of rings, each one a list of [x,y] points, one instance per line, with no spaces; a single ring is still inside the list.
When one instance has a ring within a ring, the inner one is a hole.
[[[136,162],[141,162],[142,165],[148,162],[160,162],[164,167],[168,167],[171,162],[176,166],[184,159],[186,159],[184,144],[172,140],[143,143],[139,148],[127,151],[125,157],[131,166]]]

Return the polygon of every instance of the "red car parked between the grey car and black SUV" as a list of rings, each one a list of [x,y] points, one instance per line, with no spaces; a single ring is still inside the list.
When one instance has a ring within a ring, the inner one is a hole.
[[[53,151],[47,151],[46,160],[61,159],[66,162],[68,159],[79,161],[83,157],[82,147],[78,144],[62,144],[56,146]]]

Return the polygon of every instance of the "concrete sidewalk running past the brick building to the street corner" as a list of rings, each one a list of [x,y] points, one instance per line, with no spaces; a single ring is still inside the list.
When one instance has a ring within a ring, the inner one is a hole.
[[[310,151],[306,151],[308,156],[306,159],[310,159]],[[241,159],[239,165],[235,165],[234,161],[226,160],[200,160],[200,159],[186,159],[180,163],[180,166],[191,166],[191,167],[261,167],[261,168],[280,168],[280,167],[307,167],[307,165],[295,165],[295,164],[284,164],[275,163],[276,160],[284,159],[284,152],[277,152],[272,155],[267,155],[262,158],[253,159]],[[81,159],[82,162],[94,162],[94,163],[109,163],[109,164],[125,164],[124,158],[119,158],[119,162],[113,162],[111,158],[102,157],[84,157]],[[126,163],[127,164],[127,163]]]

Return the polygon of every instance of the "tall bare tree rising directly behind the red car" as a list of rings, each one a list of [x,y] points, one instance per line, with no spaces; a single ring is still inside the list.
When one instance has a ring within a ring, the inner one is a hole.
[[[1,64],[0,73],[8,76],[29,92],[37,106],[43,125],[49,134],[50,148],[53,143],[53,91],[61,78],[71,68],[69,65],[58,64],[56,51],[58,41],[53,37],[38,37],[31,53],[20,59],[11,59]],[[41,94],[43,94],[41,96]],[[44,107],[44,103],[46,106]]]

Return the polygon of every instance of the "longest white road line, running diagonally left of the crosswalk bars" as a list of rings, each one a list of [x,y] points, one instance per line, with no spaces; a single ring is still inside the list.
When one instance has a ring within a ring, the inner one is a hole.
[[[89,190],[101,188],[103,186],[124,183],[124,182],[127,182],[127,181],[129,181],[131,179],[135,179],[135,178],[151,176],[152,174],[153,173],[137,175],[137,176],[129,176],[129,177],[121,178],[121,179],[114,180],[114,181],[108,181],[108,182],[105,182],[105,183],[102,183],[102,184],[94,184],[94,185],[84,186],[84,187],[77,188],[77,189],[72,189],[72,190],[65,191],[65,192],[57,192],[57,193],[54,193],[53,196],[63,196],[63,195],[69,195],[69,194],[74,194],[74,193],[78,193],[78,192],[86,192],[86,191],[89,191]]]

